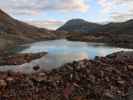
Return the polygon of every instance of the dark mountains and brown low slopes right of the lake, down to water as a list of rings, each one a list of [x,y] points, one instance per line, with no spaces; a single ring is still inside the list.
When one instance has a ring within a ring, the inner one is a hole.
[[[73,41],[103,42],[133,48],[133,20],[97,24],[82,19],[72,19],[56,31],[66,32],[66,38]]]

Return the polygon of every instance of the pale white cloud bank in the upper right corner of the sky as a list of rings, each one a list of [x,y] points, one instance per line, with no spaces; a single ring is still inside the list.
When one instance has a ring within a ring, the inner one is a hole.
[[[133,0],[97,0],[101,6],[101,14],[110,14],[112,21],[133,19]]]

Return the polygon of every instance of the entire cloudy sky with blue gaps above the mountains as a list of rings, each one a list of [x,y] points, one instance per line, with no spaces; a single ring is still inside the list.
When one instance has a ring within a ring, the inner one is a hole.
[[[56,29],[67,20],[125,21],[133,18],[133,0],[0,0],[0,7],[16,19]]]

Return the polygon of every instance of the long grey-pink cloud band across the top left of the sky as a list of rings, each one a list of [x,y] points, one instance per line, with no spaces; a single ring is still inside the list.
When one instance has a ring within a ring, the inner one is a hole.
[[[0,7],[15,15],[36,15],[45,11],[88,10],[84,0],[0,0]]]

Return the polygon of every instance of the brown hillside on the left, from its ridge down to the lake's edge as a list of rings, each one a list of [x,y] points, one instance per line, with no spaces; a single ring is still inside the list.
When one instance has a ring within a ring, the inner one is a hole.
[[[18,44],[55,37],[55,34],[50,30],[18,21],[0,10],[0,48],[7,47],[6,44]]]

